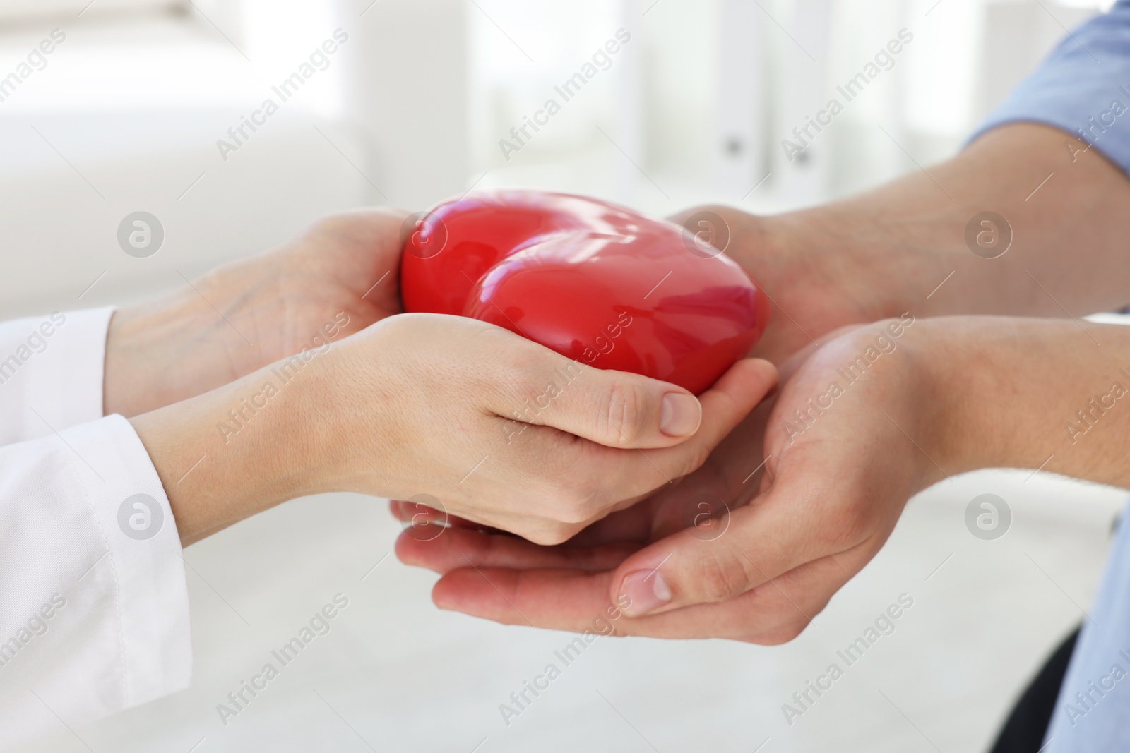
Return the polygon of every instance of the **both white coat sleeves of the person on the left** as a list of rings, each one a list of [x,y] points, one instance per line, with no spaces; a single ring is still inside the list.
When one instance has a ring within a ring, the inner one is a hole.
[[[0,324],[18,361],[0,360],[0,748],[190,680],[168,499],[130,422],[101,415],[110,313],[56,314],[51,335],[51,317]]]

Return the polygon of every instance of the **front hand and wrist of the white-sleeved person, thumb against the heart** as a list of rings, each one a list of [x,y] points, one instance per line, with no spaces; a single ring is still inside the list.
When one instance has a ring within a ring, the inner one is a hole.
[[[401,314],[132,423],[185,543],[355,491],[555,544],[695,471],[775,383],[746,359],[696,399],[477,319]]]

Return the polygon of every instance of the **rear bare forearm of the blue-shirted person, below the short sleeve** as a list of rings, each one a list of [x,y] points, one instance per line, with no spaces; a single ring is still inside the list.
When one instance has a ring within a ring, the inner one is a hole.
[[[1130,181],[1095,150],[1078,151],[1084,147],[1042,125],[996,129],[929,174],[915,169],[844,201],[739,219],[729,253],[755,277],[767,272],[770,295],[790,286],[774,279],[764,256],[800,259],[790,269],[838,287],[871,319],[906,310],[1110,310],[1130,303]],[[966,245],[966,225],[983,211],[1005,217],[1014,234],[997,259]],[[788,300],[779,303],[789,310]]]

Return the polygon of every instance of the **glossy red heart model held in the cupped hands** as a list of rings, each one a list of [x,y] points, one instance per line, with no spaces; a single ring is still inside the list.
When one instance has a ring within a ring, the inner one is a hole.
[[[768,321],[765,295],[721,252],[603,201],[479,191],[414,216],[407,229],[406,310],[470,316],[695,394]]]

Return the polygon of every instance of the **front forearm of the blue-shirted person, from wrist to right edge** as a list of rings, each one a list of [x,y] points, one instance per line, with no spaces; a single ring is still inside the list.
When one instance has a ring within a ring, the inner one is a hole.
[[[919,325],[929,481],[1022,467],[1130,488],[1130,327],[1003,317]]]

